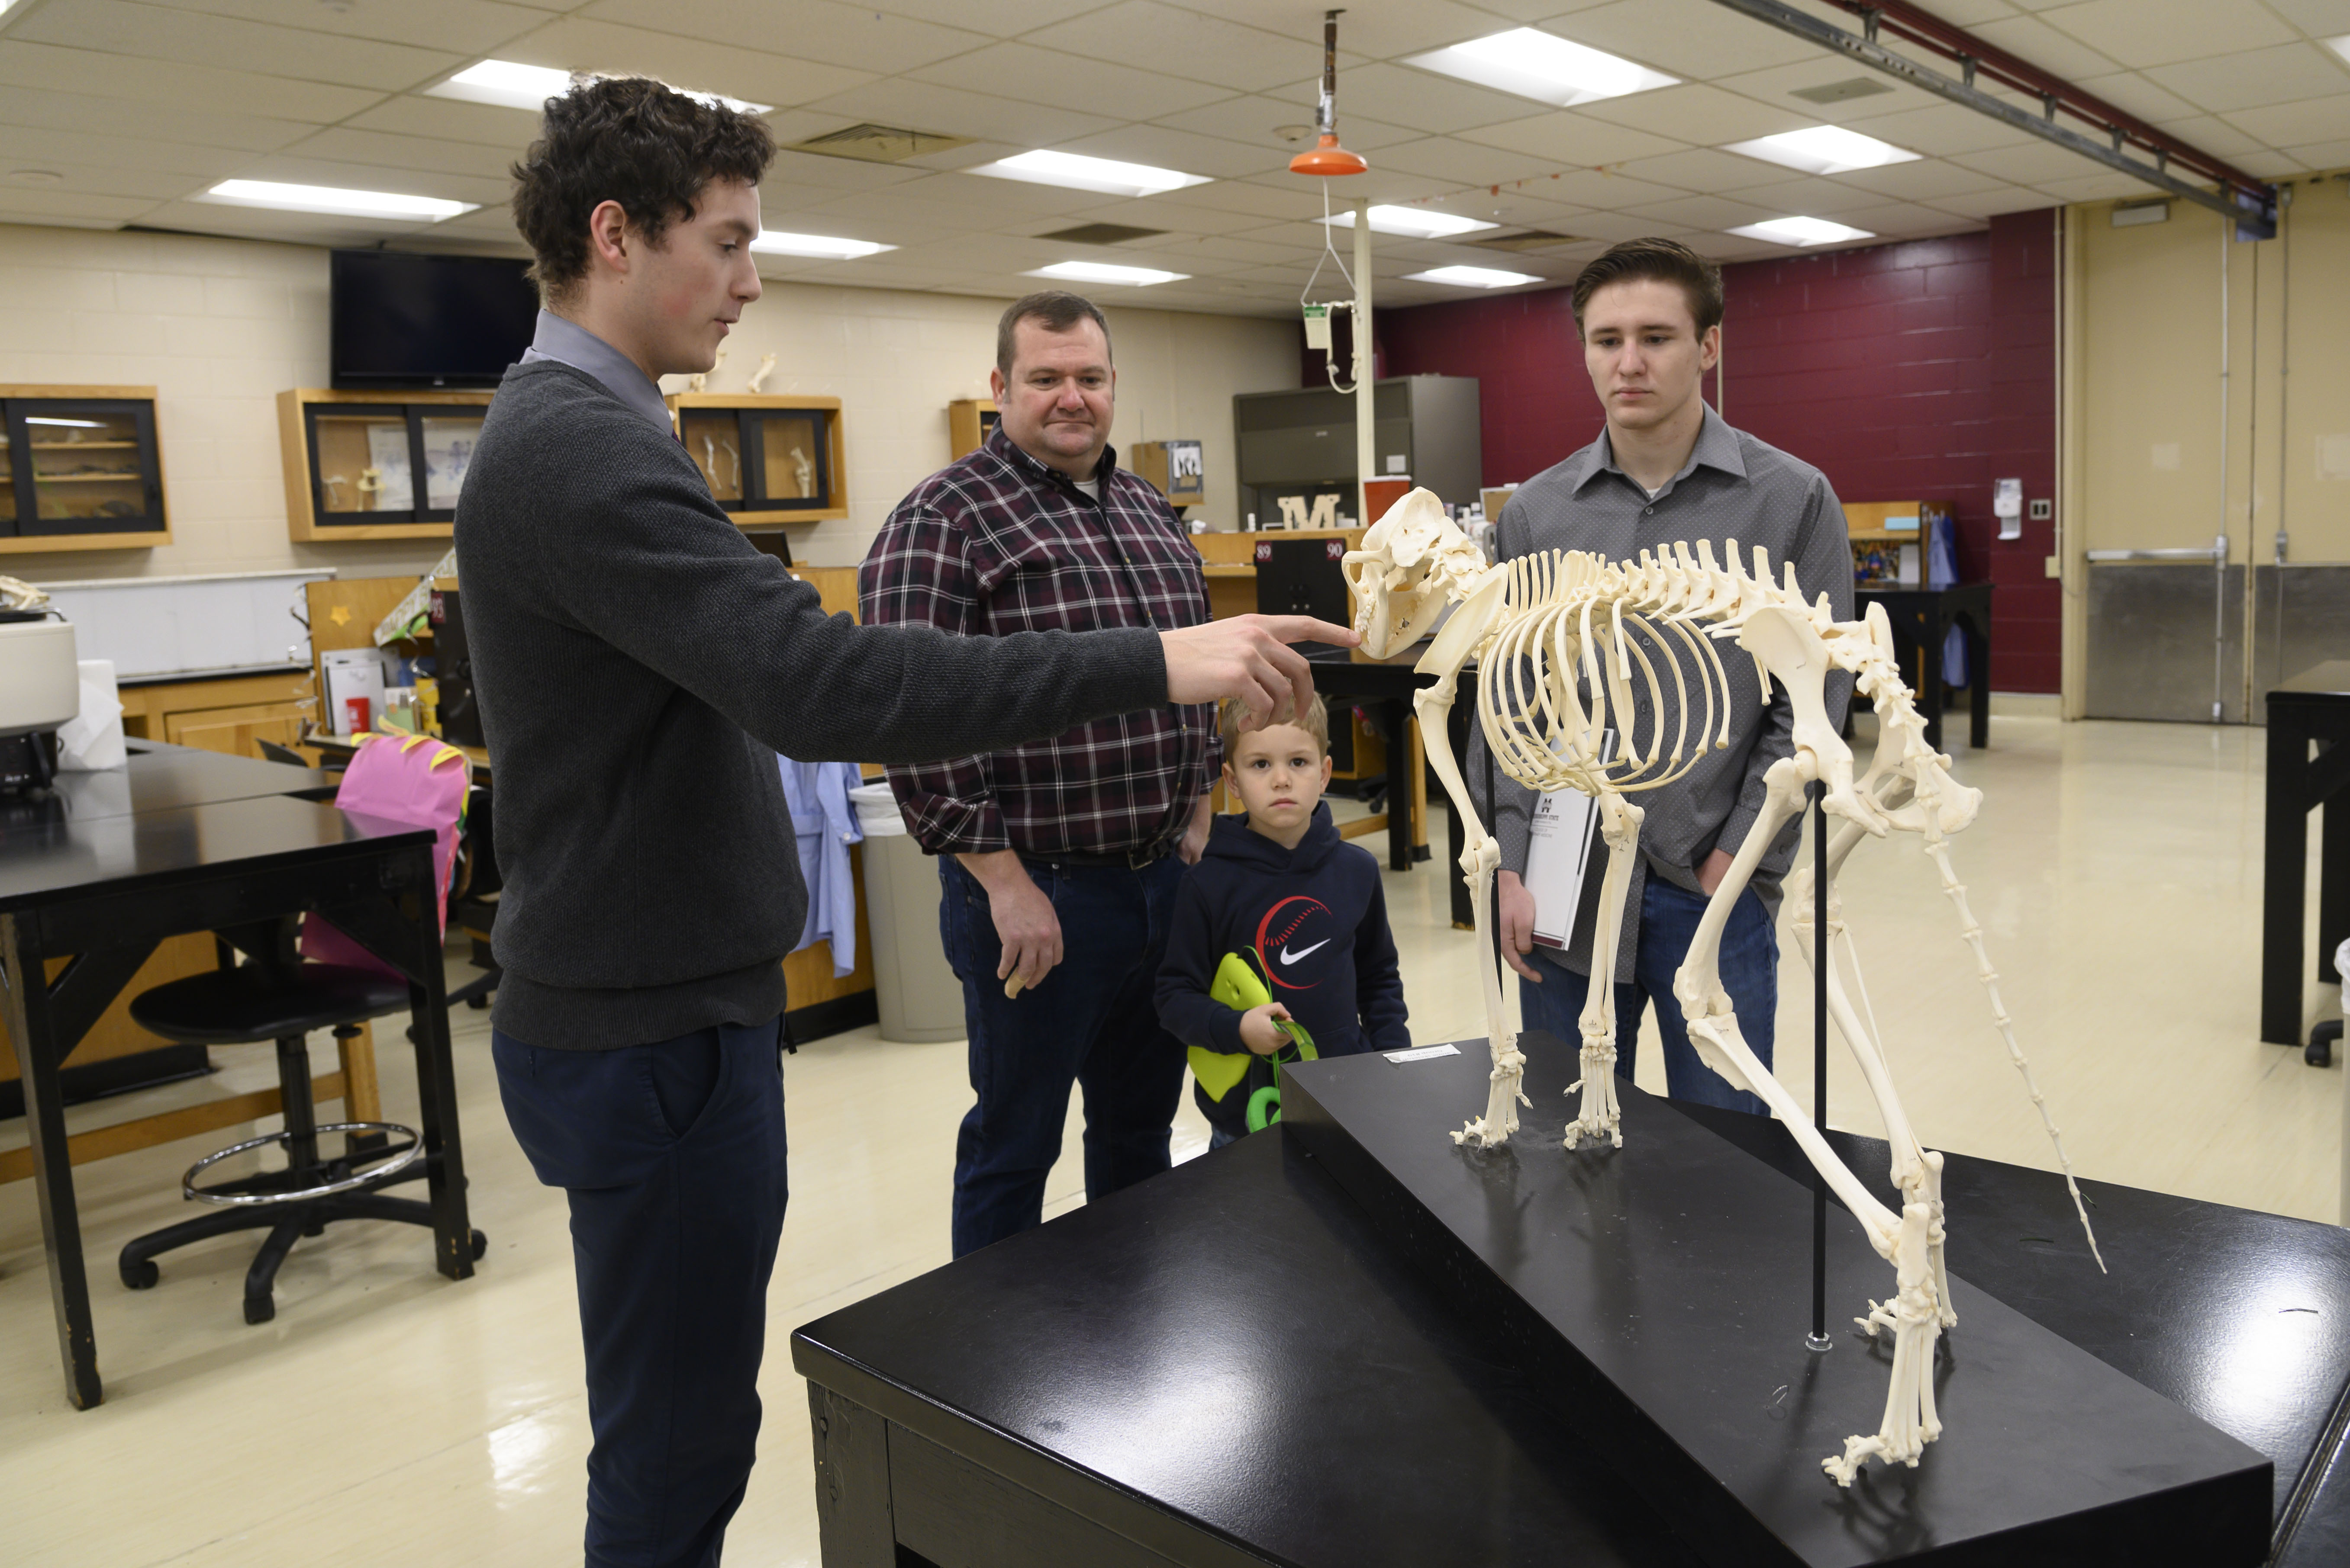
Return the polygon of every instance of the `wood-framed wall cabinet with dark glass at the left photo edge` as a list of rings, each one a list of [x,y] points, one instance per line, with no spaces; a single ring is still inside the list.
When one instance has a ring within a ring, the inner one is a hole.
[[[169,542],[155,387],[0,387],[0,554]]]

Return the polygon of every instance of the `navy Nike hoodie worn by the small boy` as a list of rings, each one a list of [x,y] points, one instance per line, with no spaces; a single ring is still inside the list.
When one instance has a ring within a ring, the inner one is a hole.
[[[1241,1014],[1208,995],[1224,953],[1248,960],[1321,1056],[1412,1042],[1379,861],[1337,836],[1328,803],[1314,807],[1295,850],[1250,829],[1248,817],[1217,817],[1175,892],[1159,1021],[1184,1045],[1246,1054]],[[1196,1087],[1194,1096],[1210,1122],[1231,1120],[1229,1106]]]

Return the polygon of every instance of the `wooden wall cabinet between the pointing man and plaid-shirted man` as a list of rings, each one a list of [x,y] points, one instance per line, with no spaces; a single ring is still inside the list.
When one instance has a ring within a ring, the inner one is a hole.
[[[665,401],[686,455],[736,523],[848,516],[841,399],[672,392]]]

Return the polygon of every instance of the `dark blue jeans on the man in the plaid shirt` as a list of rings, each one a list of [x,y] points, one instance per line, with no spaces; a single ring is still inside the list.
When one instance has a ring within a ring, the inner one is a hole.
[[[1086,1091],[1086,1197],[1168,1169],[1184,1052],[1159,1026],[1152,993],[1166,958],[1182,861],[1029,864],[1060,918],[1062,960],[1006,1000],[1003,944],[987,890],[938,857],[938,934],[964,981],[975,1103],[954,1138],[954,1256],[1043,1221],[1043,1181],[1060,1160],[1069,1084]]]

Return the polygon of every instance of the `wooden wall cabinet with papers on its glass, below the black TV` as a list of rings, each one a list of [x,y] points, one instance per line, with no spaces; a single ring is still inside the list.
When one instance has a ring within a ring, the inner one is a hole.
[[[324,540],[446,540],[489,392],[277,394],[287,533]]]

